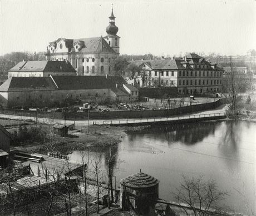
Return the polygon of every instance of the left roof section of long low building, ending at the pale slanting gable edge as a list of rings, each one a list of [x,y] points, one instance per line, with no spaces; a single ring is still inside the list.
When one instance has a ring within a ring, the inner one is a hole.
[[[0,86],[0,92],[55,90],[51,77],[11,77]]]

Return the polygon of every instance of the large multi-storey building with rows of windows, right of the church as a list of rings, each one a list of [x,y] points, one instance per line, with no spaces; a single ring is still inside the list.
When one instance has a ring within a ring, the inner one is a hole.
[[[183,59],[132,61],[140,68],[140,87],[177,87],[180,94],[218,92],[223,69],[191,53]]]

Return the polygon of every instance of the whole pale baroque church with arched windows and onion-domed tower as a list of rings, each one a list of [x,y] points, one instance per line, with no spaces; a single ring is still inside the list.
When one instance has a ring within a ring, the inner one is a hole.
[[[115,58],[119,56],[120,46],[113,8],[106,32],[105,37],[58,38],[47,46],[46,59],[47,61],[68,61],[80,76],[113,74]]]

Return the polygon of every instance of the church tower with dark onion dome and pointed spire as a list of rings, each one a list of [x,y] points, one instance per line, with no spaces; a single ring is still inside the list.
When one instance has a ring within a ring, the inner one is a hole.
[[[118,32],[118,27],[115,25],[115,16],[113,13],[113,7],[112,7],[112,13],[109,17],[109,26],[106,28],[107,36],[105,36],[106,42],[114,49],[114,51],[119,54],[119,41],[120,37],[116,35]]]

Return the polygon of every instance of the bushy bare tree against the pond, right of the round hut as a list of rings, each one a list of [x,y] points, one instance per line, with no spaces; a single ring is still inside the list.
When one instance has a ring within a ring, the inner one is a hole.
[[[186,215],[189,215],[187,207],[195,216],[209,215],[210,210],[218,208],[218,202],[228,195],[228,192],[218,189],[214,180],[205,181],[202,176],[197,179],[182,177],[183,183],[176,188],[174,195]]]

